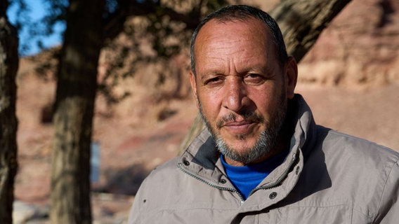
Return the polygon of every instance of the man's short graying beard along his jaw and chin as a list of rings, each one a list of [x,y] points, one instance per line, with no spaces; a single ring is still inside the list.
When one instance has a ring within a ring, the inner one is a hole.
[[[280,98],[280,105],[278,105],[279,108],[277,109],[277,111],[275,111],[275,114],[270,116],[270,120],[266,124],[266,130],[263,130],[261,132],[259,139],[256,141],[256,144],[252,148],[245,150],[244,153],[238,153],[235,148],[228,146],[228,144],[225,143],[220,135],[216,134],[216,132],[211,128],[211,125],[207,118],[204,117],[202,106],[198,101],[199,113],[202,116],[202,120],[204,121],[205,126],[214,138],[218,151],[225,157],[230,158],[231,160],[248,164],[258,158],[262,158],[268,153],[273,152],[273,149],[275,148],[277,138],[280,134],[280,130],[282,129],[282,125],[287,114],[287,98],[285,97],[284,93],[282,93]],[[245,117],[246,115],[244,114],[243,116]],[[226,120],[234,119],[235,115],[230,114],[227,117],[228,118],[225,118]],[[260,119],[263,120],[263,118]],[[245,139],[245,137],[240,135],[237,136],[237,139]]]

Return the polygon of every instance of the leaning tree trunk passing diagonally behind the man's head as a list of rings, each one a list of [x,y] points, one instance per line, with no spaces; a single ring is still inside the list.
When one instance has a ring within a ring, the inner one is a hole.
[[[289,55],[299,62],[312,48],[329,22],[351,0],[284,0],[270,11],[277,21]],[[204,129],[199,114],[182,141],[179,154],[183,153],[195,137]]]

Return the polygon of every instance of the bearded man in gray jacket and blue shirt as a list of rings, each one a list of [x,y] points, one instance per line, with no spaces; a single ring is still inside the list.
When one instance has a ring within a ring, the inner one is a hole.
[[[398,153],[315,125],[275,21],[249,6],[192,36],[207,129],[155,169],[129,223],[396,223]]]

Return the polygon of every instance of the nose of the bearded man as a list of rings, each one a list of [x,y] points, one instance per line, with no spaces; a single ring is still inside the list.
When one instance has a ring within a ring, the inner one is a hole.
[[[241,78],[234,77],[226,80],[223,107],[230,111],[238,112],[245,106],[246,98],[247,90]]]

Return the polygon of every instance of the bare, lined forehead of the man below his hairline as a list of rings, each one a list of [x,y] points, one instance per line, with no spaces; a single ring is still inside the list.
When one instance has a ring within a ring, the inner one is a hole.
[[[268,61],[274,55],[268,27],[260,20],[210,20],[199,30],[194,54],[197,65],[210,66],[214,59],[255,63]],[[197,69],[204,69],[199,68]]]

